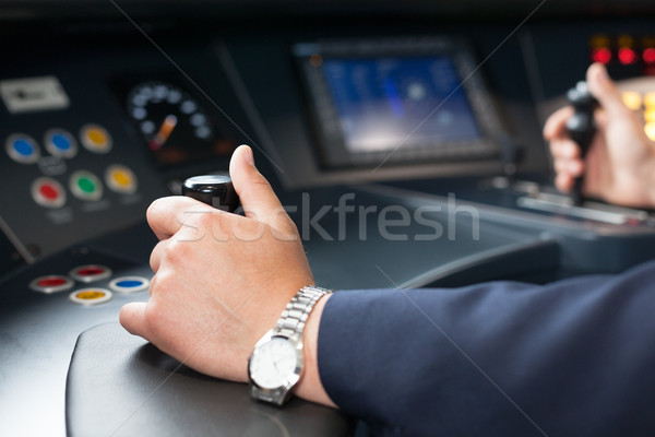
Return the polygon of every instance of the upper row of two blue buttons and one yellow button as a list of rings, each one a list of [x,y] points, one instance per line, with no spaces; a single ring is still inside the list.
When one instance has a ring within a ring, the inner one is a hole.
[[[107,129],[98,125],[83,126],[80,129],[80,142],[93,153],[107,153],[114,143]],[[72,158],[78,154],[78,141],[64,129],[48,130],[44,135],[44,146],[52,156]],[[9,157],[21,164],[34,164],[41,155],[36,141],[25,133],[11,134],[4,147]]]

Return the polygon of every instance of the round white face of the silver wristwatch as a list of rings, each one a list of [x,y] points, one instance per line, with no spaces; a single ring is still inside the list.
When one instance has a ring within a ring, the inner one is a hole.
[[[250,359],[250,377],[263,389],[276,389],[289,382],[298,364],[296,347],[287,339],[274,336],[262,344]]]

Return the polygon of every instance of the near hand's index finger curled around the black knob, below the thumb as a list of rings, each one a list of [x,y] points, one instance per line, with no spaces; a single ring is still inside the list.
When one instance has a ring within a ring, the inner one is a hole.
[[[194,215],[216,211],[195,199],[175,196],[155,200],[145,215],[148,225],[157,238],[162,240],[175,235]]]

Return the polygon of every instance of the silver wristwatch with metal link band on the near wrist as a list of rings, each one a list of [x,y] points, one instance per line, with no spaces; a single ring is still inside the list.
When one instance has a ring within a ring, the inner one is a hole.
[[[275,328],[254,345],[248,361],[250,395],[283,405],[302,371],[302,330],[314,305],[331,290],[302,287],[287,304]]]

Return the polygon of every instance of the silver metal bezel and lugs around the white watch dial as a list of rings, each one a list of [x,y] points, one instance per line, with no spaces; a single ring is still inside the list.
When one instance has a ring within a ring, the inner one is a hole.
[[[291,343],[294,346],[294,351],[296,352],[296,366],[294,367],[294,371],[286,377],[285,383],[275,387],[273,389],[261,387],[255,378],[257,375],[252,374],[252,369],[250,367],[252,363],[252,358],[255,354],[258,354],[261,347],[270,342],[273,339],[284,339]],[[251,385],[251,395],[258,400],[273,402],[278,405],[284,404],[291,394],[291,389],[298,381],[300,380],[300,374],[302,373],[302,364],[303,364],[303,354],[302,354],[302,340],[298,338],[298,335],[286,335],[277,332],[275,329],[266,332],[254,345],[252,351],[252,355],[248,358],[248,379]]]

